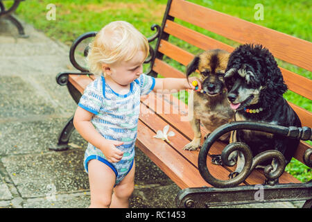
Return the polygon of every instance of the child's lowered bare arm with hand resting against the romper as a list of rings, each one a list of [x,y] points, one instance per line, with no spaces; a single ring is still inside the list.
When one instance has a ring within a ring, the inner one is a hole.
[[[92,112],[88,112],[78,106],[75,116],[73,117],[73,126],[87,142],[99,148],[109,162],[118,162],[123,157],[123,152],[119,151],[116,146],[120,146],[123,142],[115,142],[105,139],[91,123],[93,117]]]

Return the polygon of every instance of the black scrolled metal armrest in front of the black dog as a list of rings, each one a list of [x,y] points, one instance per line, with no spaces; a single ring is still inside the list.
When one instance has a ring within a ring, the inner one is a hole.
[[[207,155],[209,152],[210,147],[216,140],[225,133],[228,133],[232,130],[259,130],[264,131],[266,133],[273,133],[277,135],[283,135],[285,137],[291,137],[294,139],[302,139],[302,140],[311,140],[311,128],[309,127],[302,127],[297,128],[294,126],[284,127],[284,126],[276,126],[268,123],[256,123],[252,121],[236,121],[227,123],[223,126],[220,126],[214,132],[212,132],[209,137],[205,140],[202,148],[200,148],[200,153],[198,155],[198,169],[200,171],[200,175],[204,178],[210,185],[218,188],[225,188],[225,187],[236,187],[237,185],[241,184],[247,178],[252,170],[257,167],[258,164],[265,160],[272,160],[275,158],[278,162],[277,169],[274,172],[272,171],[272,166],[268,165],[264,169],[264,174],[267,178],[267,181],[270,185],[274,185],[275,181],[282,173],[284,173],[284,169],[286,167],[284,155],[282,155],[279,151],[270,150],[265,151],[263,153],[259,153],[255,157],[252,157],[252,151],[250,150],[247,144],[241,142],[234,142],[232,144],[228,144],[223,149],[221,154],[221,159],[223,164],[228,167],[234,166],[236,162],[229,160],[229,155],[234,151],[241,151],[245,157],[245,165],[243,167],[243,171],[239,173],[238,176],[229,180],[218,180],[211,176],[209,169],[207,168]],[[312,161],[310,160],[310,156],[312,154],[311,149],[308,149],[304,154],[304,161],[305,164],[309,167],[312,165]]]

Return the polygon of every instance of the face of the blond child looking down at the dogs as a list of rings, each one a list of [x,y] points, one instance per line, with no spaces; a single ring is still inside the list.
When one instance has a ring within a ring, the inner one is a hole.
[[[142,74],[144,58],[144,52],[138,51],[131,60],[111,65],[110,77],[119,85],[129,85]]]

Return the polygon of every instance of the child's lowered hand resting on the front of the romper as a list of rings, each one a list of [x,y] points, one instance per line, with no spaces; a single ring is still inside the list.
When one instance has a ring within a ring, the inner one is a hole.
[[[108,162],[119,162],[123,157],[123,151],[119,151],[116,146],[121,146],[123,142],[106,139],[105,145],[101,148],[101,151],[105,155]]]

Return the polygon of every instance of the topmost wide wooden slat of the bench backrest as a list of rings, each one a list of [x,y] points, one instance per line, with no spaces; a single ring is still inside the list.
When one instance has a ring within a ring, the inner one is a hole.
[[[263,45],[268,47],[276,58],[312,71],[311,42],[198,6],[189,1],[173,0],[169,15],[241,44],[264,43]]]

